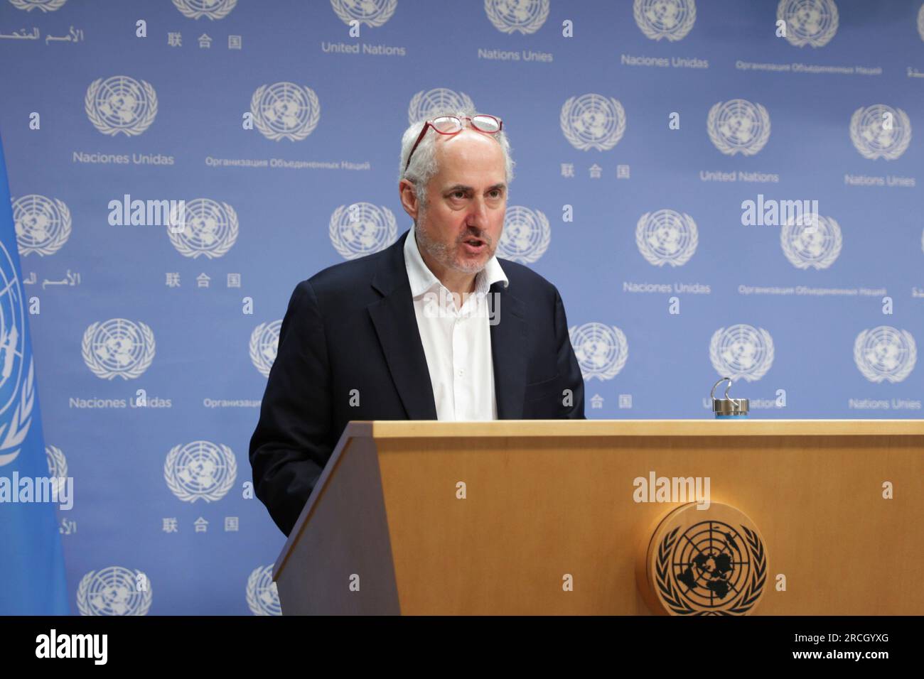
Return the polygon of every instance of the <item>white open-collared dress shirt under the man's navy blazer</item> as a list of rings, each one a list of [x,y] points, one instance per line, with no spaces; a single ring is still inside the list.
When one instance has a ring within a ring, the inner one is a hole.
[[[414,313],[427,357],[436,418],[497,419],[491,325],[487,294],[491,285],[509,284],[493,257],[475,276],[475,290],[460,309],[448,288],[420,257],[414,226],[404,246],[407,280],[414,297]]]

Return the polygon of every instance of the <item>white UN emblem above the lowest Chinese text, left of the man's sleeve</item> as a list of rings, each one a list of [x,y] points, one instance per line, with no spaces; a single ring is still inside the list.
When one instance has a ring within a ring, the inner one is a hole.
[[[193,441],[176,445],[164,460],[167,488],[185,503],[213,503],[225,497],[237,479],[237,460],[226,445]]]

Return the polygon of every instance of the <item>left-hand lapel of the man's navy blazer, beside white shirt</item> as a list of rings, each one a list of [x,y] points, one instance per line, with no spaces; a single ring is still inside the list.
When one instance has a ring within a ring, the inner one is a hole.
[[[404,242],[408,233],[406,231],[385,250],[382,266],[371,284],[383,297],[372,302],[367,309],[395,388],[407,410],[407,418],[436,419],[430,369],[420,341],[404,261]]]

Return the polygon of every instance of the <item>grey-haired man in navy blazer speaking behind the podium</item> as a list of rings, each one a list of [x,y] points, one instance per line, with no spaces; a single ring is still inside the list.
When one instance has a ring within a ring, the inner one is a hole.
[[[494,256],[512,169],[497,118],[408,127],[398,191],[414,225],[296,287],[250,439],[257,497],[286,535],[349,420],[584,418],[558,290]]]

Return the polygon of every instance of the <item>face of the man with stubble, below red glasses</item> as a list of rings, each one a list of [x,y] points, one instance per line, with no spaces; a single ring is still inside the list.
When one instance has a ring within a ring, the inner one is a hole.
[[[504,153],[495,139],[466,128],[437,139],[436,161],[440,170],[427,187],[426,209],[418,213],[419,246],[444,267],[479,273],[504,230]]]

